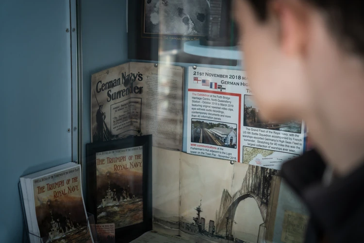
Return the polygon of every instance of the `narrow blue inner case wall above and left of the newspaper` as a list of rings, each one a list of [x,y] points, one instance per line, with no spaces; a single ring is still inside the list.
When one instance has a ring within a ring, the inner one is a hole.
[[[128,61],[126,0],[83,0],[83,156],[91,142],[91,75]]]

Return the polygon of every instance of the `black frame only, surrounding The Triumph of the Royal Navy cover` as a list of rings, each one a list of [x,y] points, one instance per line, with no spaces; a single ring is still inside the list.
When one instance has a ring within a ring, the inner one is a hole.
[[[143,222],[115,230],[116,242],[130,242],[152,230],[152,135],[86,144],[86,208],[97,222],[96,153],[143,147]]]

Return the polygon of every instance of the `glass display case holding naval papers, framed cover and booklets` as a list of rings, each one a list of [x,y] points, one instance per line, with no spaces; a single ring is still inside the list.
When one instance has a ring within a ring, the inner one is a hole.
[[[261,118],[232,0],[70,6],[66,131],[81,172],[28,173],[26,238],[81,242],[69,239],[82,229],[95,243],[303,242],[308,212],[280,169],[307,150],[306,126]]]

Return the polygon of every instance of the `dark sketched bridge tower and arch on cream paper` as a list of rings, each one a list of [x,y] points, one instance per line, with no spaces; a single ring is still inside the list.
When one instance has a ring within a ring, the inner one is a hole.
[[[216,210],[216,233],[231,234],[236,208],[244,199],[252,197],[258,204],[262,219],[265,221],[269,202],[270,186],[275,170],[249,165],[241,188],[233,195],[224,190],[220,208]]]

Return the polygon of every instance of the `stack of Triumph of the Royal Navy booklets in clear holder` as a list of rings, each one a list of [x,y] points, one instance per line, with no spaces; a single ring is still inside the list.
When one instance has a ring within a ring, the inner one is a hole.
[[[80,165],[70,162],[20,177],[20,185],[31,243],[93,243]]]

